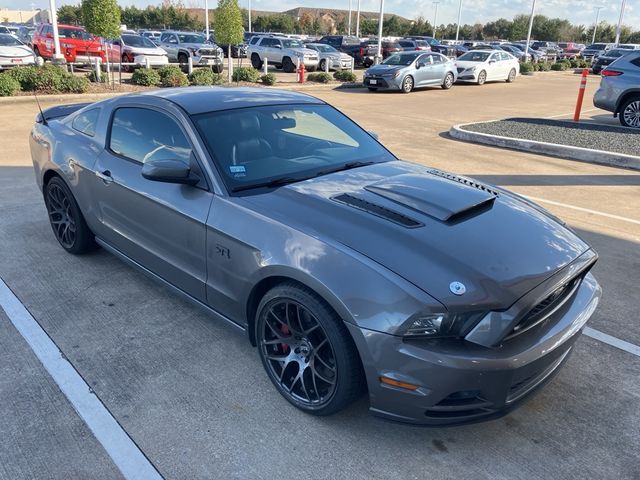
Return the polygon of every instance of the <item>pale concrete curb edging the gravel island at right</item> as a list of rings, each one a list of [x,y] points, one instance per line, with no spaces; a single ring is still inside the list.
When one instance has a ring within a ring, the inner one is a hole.
[[[501,137],[499,135],[491,135],[488,133],[464,130],[464,127],[467,125],[491,123],[494,121],[495,120],[454,125],[449,130],[449,135],[457,140],[462,140],[465,142],[481,143],[483,145],[491,145],[500,148],[510,148],[513,150],[521,150],[523,152],[529,153],[541,153],[544,155],[551,155],[553,157],[578,160],[580,162],[595,163],[598,165],[606,165],[609,167],[640,170],[640,157],[636,157],[633,155],[625,155],[624,153],[616,152],[605,152],[603,150],[592,150],[589,148],[574,147],[569,145],[560,145],[557,143],[538,142],[536,140]]]

